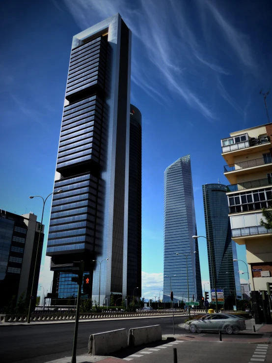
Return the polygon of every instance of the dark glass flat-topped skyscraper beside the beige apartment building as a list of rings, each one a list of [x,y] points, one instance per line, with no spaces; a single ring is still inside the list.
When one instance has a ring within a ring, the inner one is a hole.
[[[214,253],[215,275],[217,288],[224,288],[224,296],[230,290],[236,291],[241,297],[240,277],[238,273],[236,244],[231,239],[231,226],[228,217],[227,187],[223,184],[205,184],[202,186],[206,236],[210,240]],[[209,243],[208,262],[211,288],[214,288]]]

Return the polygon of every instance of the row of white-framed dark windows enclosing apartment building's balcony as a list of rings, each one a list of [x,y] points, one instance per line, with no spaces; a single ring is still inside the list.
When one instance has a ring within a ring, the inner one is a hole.
[[[228,195],[229,206],[247,204],[272,199],[272,188]]]

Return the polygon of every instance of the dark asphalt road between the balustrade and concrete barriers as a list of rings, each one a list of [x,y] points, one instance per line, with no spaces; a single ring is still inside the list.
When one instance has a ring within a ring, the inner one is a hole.
[[[183,323],[185,319],[188,317],[175,317],[176,333],[181,333],[178,324]],[[156,324],[161,325],[163,334],[173,334],[172,317],[80,322],[78,354],[87,351],[91,334]],[[43,363],[71,356],[74,327],[73,323],[2,326],[0,327],[0,361],[1,363],[23,363],[24,361]]]

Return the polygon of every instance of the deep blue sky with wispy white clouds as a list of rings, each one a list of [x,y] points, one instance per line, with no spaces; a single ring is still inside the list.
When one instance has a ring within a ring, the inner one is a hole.
[[[28,195],[53,189],[72,37],[119,12],[133,33],[131,102],[142,113],[142,292],[158,296],[163,172],[191,155],[197,229],[205,235],[202,184],[218,178],[228,184],[220,139],[267,123],[259,91],[272,81],[271,11],[269,0],[6,2],[0,12],[0,206],[41,218],[41,201]],[[272,110],[272,94],[267,102]],[[50,202],[47,227],[49,216]],[[207,281],[205,240],[199,245]],[[245,260],[245,248],[237,250]],[[46,260],[45,289],[51,280]]]

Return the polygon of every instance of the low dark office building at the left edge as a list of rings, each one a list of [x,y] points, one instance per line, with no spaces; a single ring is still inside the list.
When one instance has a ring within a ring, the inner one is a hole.
[[[0,211],[0,307],[16,305],[20,296],[29,299],[32,288],[41,223],[33,213],[21,216]],[[41,265],[44,225],[40,237],[37,266]],[[34,281],[36,301],[38,274]]]

